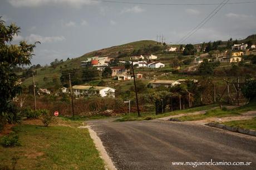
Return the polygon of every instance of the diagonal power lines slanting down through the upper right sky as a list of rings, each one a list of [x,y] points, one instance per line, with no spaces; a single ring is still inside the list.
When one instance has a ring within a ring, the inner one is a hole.
[[[225,2],[226,1],[226,2]],[[218,13],[220,11],[221,8],[223,8],[225,6],[225,4],[227,4],[229,2],[229,0],[225,0],[221,3],[221,5],[219,5],[218,7],[216,7],[213,12],[211,12],[206,18],[203,19],[202,22],[200,22],[198,24],[198,26],[196,26],[194,29],[192,29],[188,34],[186,34],[185,37],[183,37],[178,43],[182,43],[184,41],[186,41],[186,39],[188,39],[189,37],[191,37],[194,33],[196,33],[201,27],[203,27],[208,21],[210,21],[211,18],[213,18],[215,16],[216,13]],[[225,3],[224,3],[225,2]]]

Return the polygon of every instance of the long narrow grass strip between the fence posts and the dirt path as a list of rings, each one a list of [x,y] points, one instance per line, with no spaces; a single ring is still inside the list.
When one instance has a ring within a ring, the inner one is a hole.
[[[210,104],[206,106],[200,106],[200,107],[194,107],[189,108],[181,111],[174,111],[174,112],[167,112],[164,114],[155,114],[154,112],[147,112],[147,113],[141,113],[140,117],[137,117],[136,113],[131,113],[131,115],[126,115],[120,119],[117,119],[118,122],[125,122],[125,121],[144,121],[144,120],[151,120],[161,117],[167,117],[167,116],[174,116],[178,114],[184,114],[184,113],[192,113],[192,112],[198,112],[198,111],[204,111],[211,109],[213,107],[218,106],[217,104]]]

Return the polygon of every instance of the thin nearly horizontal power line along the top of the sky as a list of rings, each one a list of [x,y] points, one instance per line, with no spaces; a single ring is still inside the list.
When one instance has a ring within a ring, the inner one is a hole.
[[[104,3],[119,3],[119,4],[140,4],[140,5],[155,5],[155,6],[215,6],[221,3],[144,3],[144,2],[127,2],[127,1],[110,1],[110,0],[91,0],[95,2]],[[256,1],[247,2],[229,2],[227,4],[249,4],[256,3]]]

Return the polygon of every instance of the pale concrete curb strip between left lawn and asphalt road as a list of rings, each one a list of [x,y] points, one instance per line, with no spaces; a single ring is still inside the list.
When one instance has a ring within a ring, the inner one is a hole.
[[[96,149],[100,152],[101,159],[103,159],[105,165],[107,166],[107,169],[117,170],[111,158],[109,157],[109,154],[107,154],[107,151],[103,146],[101,139],[99,138],[99,136],[97,136],[97,133],[93,131],[93,129],[90,126],[87,126],[87,128],[93,140],[93,143],[95,144]]]

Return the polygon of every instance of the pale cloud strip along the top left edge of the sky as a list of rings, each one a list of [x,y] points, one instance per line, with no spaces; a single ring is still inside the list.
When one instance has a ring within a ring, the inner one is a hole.
[[[80,7],[84,5],[98,4],[91,0],[8,0],[13,7],[39,7],[39,6],[58,6],[66,5]]]

